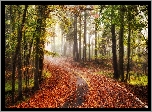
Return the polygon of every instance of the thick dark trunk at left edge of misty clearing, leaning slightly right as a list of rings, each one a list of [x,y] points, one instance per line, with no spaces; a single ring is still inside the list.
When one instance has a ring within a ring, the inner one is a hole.
[[[35,74],[34,74],[34,88],[39,89],[39,83],[42,81],[42,70],[43,70],[43,59],[44,59],[44,34],[46,27],[46,17],[45,15],[47,6],[38,6],[38,20],[36,29],[36,54],[35,54]]]

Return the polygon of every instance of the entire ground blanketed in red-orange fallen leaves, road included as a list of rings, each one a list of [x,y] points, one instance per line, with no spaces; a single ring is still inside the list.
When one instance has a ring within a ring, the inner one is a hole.
[[[89,63],[88,68],[87,63],[72,60],[45,56],[44,68],[51,72],[51,77],[30,98],[10,108],[144,108],[148,105],[147,87],[118,82],[98,74],[102,69],[94,64]]]

